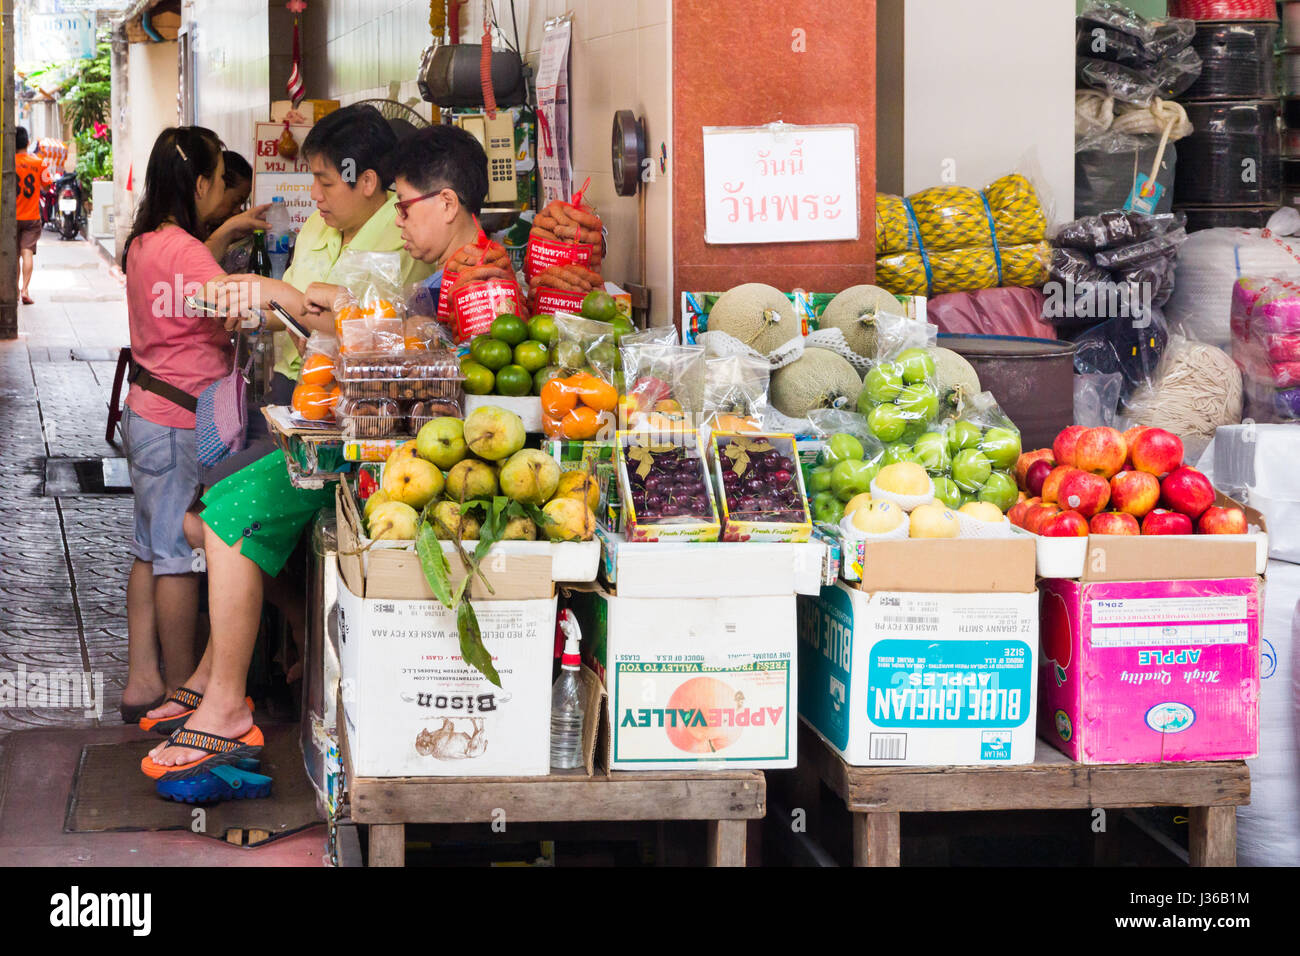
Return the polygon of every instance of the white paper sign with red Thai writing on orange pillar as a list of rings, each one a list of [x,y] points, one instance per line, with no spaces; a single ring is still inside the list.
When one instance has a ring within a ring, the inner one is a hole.
[[[858,127],[706,126],[705,242],[858,238]]]

